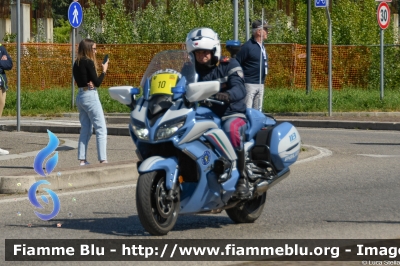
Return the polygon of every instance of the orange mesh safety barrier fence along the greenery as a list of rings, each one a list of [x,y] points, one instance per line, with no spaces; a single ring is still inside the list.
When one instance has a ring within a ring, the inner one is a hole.
[[[4,44],[14,61],[7,72],[9,86],[16,87],[16,44]],[[77,47],[77,46],[76,46]],[[269,55],[267,88],[306,87],[306,46],[299,44],[266,44]],[[223,54],[229,55],[223,45]],[[163,50],[185,49],[184,43],[159,44],[97,44],[97,62],[109,54],[110,64],[102,87],[117,85],[139,86],[153,56]],[[365,46],[333,46],[333,88],[365,88],[371,51]],[[23,43],[21,45],[21,87],[24,89],[68,88],[72,78],[72,45]],[[76,52],[77,54],[77,52]],[[311,48],[312,87],[328,87],[328,47]]]

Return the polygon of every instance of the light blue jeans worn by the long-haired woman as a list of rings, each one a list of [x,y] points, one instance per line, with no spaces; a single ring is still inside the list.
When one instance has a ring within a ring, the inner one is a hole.
[[[86,153],[93,126],[96,130],[97,157],[99,161],[107,160],[107,127],[97,90],[79,91],[76,96],[79,110],[81,132],[78,144],[78,160],[86,160]]]

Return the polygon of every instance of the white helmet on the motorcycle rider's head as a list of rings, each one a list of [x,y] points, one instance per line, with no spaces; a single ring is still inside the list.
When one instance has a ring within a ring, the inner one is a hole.
[[[221,44],[218,34],[210,28],[196,28],[186,37],[186,50],[192,53],[196,50],[210,50],[216,61],[221,58]]]

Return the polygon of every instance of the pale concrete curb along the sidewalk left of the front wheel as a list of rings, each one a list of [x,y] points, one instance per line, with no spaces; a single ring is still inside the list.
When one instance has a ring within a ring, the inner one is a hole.
[[[81,188],[114,182],[134,181],[138,178],[136,162],[110,163],[106,166],[87,165],[69,169],[58,169],[46,177],[40,175],[0,176],[0,194],[27,193],[39,180],[51,183],[52,190]]]

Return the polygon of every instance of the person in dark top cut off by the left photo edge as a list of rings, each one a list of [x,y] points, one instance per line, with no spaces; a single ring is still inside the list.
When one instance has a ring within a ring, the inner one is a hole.
[[[12,60],[7,50],[0,43],[0,117],[3,114],[3,109],[6,104],[6,91],[7,87],[7,77],[4,70],[11,70]],[[0,155],[7,155],[9,152],[0,148]]]

